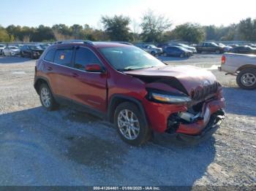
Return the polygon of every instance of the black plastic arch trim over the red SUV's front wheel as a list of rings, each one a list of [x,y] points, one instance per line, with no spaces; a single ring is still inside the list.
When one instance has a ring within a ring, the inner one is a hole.
[[[133,104],[135,104],[138,107],[141,114],[143,115],[143,119],[145,120],[145,124],[148,125],[146,112],[145,112],[145,109],[144,109],[143,105],[141,104],[141,102],[136,98],[132,98],[132,97],[129,97],[127,95],[119,95],[119,94],[112,95],[111,98],[110,98],[110,101],[109,101],[109,104],[108,104],[107,120],[109,122],[113,122],[116,107],[119,104],[127,102],[127,101],[132,102]]]

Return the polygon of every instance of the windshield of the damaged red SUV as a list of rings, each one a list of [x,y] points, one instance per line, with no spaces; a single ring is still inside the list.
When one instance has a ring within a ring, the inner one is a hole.
[[[165,63],[138,47],[102,47],[99,51],[118,71],[165,66]]]

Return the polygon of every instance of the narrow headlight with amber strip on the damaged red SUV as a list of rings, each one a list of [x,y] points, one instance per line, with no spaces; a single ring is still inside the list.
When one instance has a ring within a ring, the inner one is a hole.
[[[150,91],[148,93],[148,99],[151,101],[157,101],[167,104],[182,104],[192,101],[187,95],[170,94],[158,91]]]

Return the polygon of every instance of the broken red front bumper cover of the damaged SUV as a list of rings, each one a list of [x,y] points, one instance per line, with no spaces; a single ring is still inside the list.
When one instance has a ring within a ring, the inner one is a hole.
[[[203,108],[208,108],[210,110],[210,116],[207,121],[203,119],[198,119],[195,122],[184,123],[181,120],[174,120],[178,123],[175,128],[172,125],[169,125],[170,116],[177,114],[178,112],[187,112],[187,106],[185,105],[175,105],[175,104],[158,104],[151,101],[145,101],[143,103],[145,107],[146,115],[148,117],[148,122],[151,125],[151,128],[158,133],[178,133],[190,136],[200,135],[204,129],[208,126],[208,120],[218,111],[221,111],[225,108],[225,99],[218,98],[211,101],[207,101]],[[205,114],[203,109],[203,115]]]

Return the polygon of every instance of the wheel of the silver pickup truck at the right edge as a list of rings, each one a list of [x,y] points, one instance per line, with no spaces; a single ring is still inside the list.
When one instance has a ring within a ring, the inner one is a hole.
[[[256,89],[256,69],[243,69],[236,77],[239,87],[245,90]]]

